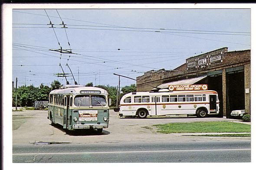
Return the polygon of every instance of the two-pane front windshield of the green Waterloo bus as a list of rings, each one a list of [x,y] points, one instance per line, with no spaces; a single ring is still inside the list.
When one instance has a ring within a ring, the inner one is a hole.
[[[101,95],[78,95],[74,99],[74,105],[78,107],[88,106],[105,106],[107,105],[106,99]]]

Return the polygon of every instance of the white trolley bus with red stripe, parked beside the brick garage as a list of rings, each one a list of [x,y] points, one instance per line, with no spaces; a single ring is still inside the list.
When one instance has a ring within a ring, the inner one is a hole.
[[[218,94],[212,90],[133,92],[121,98],[119,116],[193,114],[203,118],[219,110]]]

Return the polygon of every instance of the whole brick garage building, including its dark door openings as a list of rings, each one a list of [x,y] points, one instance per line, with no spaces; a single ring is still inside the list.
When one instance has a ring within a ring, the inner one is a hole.
[[[152,91],[151,86],[167,88],[167,84],[207,84],[219,94],[220,111],[230,118],[233,110],[245,109],[250,114],[250,50],[228,52],[227,47],[186,59],[174,70],[151,70],[137,77],[137,92]],[[179,82],[177,82],[179,81]]]

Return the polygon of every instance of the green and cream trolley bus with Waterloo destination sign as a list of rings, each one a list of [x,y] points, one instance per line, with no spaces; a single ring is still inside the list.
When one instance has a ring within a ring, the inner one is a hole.
[[[64,85],[49,94],[48,119],[51,125],[64,129],[97,129],[102,133],[108,127],[108,92],[102,88],[83,85]]]

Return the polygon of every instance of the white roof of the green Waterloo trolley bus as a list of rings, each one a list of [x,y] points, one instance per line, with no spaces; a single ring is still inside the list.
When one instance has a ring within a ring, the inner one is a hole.
[[[61,88],[61,89],[56,89],[50,92],[50,94],[81,94],[81,91],[100,91],[100,94],[108,94],[106,90],[103,88],[98,88],[98,87],[68,87],[68,88]],[[85,94],[85,93],[83,93]],[[96,94],[96,93],[86,93],[86,94]],[[98,93],[97,93],[98,94]]]

